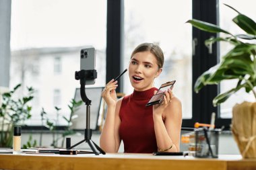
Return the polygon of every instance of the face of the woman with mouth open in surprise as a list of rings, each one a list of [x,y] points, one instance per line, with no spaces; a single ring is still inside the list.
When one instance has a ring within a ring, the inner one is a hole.
[[[151,89],[154,79],[160,75],[156,56],[149,51],[135,53],[129,64],[129,78],[136,91]]]

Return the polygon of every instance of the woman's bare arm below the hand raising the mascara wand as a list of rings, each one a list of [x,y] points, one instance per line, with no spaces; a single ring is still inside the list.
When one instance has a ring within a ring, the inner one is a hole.
[[[121,139],[119,137],[119,126],[121,120],[119,118],[119,110],[122,99],[117,101],[116,105],[110,105],[106,112],[106,120],[102,133],[100,135],[100,147],[106,153],[117,153]]]

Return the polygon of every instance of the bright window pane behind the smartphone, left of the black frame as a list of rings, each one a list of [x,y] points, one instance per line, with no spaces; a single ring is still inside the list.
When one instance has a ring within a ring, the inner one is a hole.
[[[40,125],[41,108],[53,119],[55,106],[69,114],[82,48],[96,48],[96,86],[105,84],[106,1],[13,0],[11,5],[10,86],[22,83],[20,93],[26,86],[36,89],[28,124]]]

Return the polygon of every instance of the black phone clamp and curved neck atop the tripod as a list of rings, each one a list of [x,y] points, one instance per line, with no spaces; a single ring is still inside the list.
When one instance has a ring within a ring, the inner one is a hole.
[[[94,80],[97,78],[96,70],[75,71],[75,79],[80,80],[80,95],[86,105],[91,105],[92,101],[86,96],[86,80]]]

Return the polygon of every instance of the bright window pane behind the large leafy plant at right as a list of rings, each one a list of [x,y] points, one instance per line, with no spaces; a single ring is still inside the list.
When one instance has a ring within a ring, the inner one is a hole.
[[[238,28],[236,24],[232,22],[232,19],[237,15],[236,11],[230,9],[223,5],[226,3],[234,7],[234,9],[239,12],[251,17],[254,21],[256,21],[256,12],[255,5],[256,1],[252,0],[220,0],[220,27],[232,34],[244,34],[245,32]],[[224,36],[224,34],[220,34],[220,36]],[[220,42],[220,56],[223,56],[230,50],[232,46],[226,42]],[[221,59],[221,58],[220,58]],[[223,93],[228,91],[229,89],[236,86],[237,81],[230,80],[224,81],[224,83],[220,83],[220,92]],[[247,94],[244,89],[241,89],[236,94],[232,95],[227,101],[220,105],[220,116],[221,118],[231,118],[232,117],[232,107],[235,103],[241,103],[243,101],[255,101],[253,94]]]

